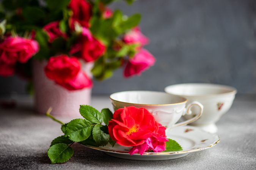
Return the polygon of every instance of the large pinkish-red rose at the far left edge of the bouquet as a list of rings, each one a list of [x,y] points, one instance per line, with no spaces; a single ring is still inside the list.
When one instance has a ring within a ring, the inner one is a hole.
[[[0,44],[0,60],[7,64],[14,64],[17,61],[26,63],[39,50],[35,40],[22,37],[8,37]]]

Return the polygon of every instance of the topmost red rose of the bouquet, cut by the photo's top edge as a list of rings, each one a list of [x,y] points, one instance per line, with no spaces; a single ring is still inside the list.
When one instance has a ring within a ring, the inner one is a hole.
[[[86,0],[71,0],[69,8],[73,11],[71,29],[74,29],[74,22],[78,22],[81,26],[89,27],[92,13],[90,3]]]

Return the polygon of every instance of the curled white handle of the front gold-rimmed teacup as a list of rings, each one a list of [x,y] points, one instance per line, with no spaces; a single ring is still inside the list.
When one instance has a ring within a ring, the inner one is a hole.
[[[192,117],[191,119],[188,119],[187,121],[174,124],[172,128],[178,127],[178,126],[187,125],[187,124],[190,124],[190,123],[196,121],[197,119],[199,119],[199,117],[200,117],[200,116],[202,115],[202,113],[203,113],[203,108],[204,108],[204,107],[203,107],[203,105],[202,105],[201,103],[196,102],[196,101],[194,101],[194,102],[192,102],[192,103],[190,103],[190,104],[187,105],[187,107],[185,108],[184,113],[182,114],[182,116],[184,116],[185,114],[191,114],[191,113],[192,113],[191,108],[192,108],[193,106],[197,106],[197,107],[200,108],[199,113],[196,114],[195,117]]]

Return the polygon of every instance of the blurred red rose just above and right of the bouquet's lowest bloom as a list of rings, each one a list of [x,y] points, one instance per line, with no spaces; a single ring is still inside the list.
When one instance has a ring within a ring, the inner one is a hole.
[[[94,38],[89,29],[83,28],[80,41],[71,47],[69,54],[91,62],[101,57],[105,53],[105,49],[105,45]]]

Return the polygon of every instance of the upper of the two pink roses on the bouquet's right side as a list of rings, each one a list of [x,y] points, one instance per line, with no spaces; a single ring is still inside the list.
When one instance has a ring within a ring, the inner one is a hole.
[[[124,34],[123,40],[127,44],[138,43],[140,46],[144,46],[149,43],[149,39],[141,33],[139,27],[135,27],[127,34]]]

